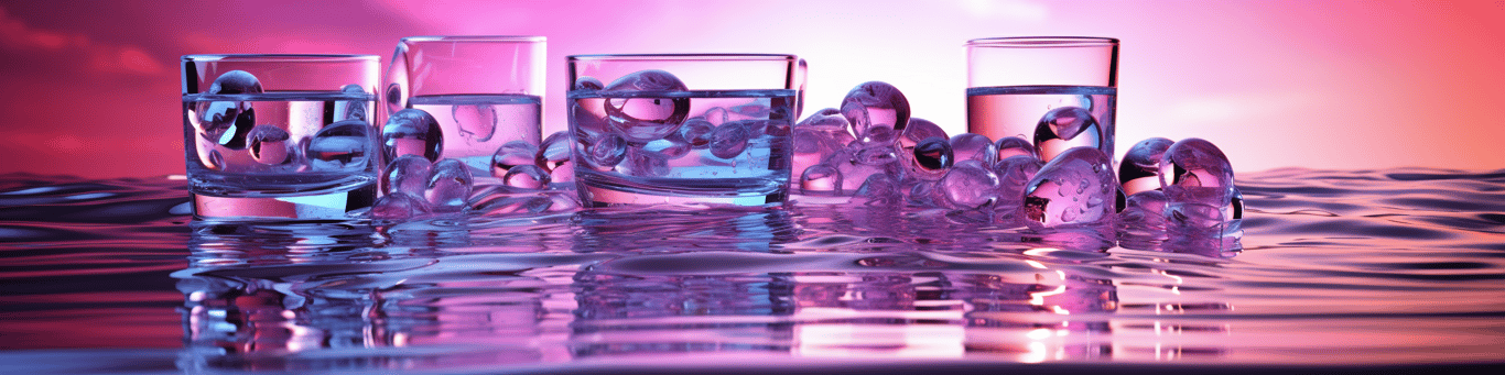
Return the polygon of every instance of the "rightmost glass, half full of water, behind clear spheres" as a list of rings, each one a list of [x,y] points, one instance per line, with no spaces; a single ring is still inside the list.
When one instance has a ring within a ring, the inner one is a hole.
[[[1072,147],[1114,154],[1118,39],[968,40],[966,80],[968,132],[1023,138],[1046,162]]]

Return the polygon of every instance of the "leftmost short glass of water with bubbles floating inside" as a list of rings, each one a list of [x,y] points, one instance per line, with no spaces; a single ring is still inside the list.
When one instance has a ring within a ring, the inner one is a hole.
[[[194,218],[340,219],[376,200],[376,56],[182,57]]]

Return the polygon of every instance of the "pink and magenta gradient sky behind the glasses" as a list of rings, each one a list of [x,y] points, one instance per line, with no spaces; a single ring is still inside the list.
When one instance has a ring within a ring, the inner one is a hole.
[[[1237,171],[1505,168],[1505,2],[0,2],[0,172],[182,174],[178,58],[376,54],[417,34],[548,38],[569,54],[783,52],[807,112],[886,81],[965,130],[963,42],[1111,36],[1118,150],[1213,141]]]

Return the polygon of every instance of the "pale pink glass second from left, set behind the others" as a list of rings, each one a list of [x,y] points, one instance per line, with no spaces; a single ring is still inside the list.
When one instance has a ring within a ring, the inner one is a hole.
[[[403,38],[382,82],[388,162],[403,154],[435,164],[455,159],[485,180],[503,146],[522,141],[537,147],[543,132],[543,36]],[[405,110],[426,112],[438,129],[417,129],[424,128],[421,122],[391,122]]]

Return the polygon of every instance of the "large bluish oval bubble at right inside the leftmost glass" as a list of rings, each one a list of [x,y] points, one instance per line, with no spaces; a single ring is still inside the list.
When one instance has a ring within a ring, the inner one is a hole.
[[[321,172],[354,172],[366,170],[376,140],[370,124],[345,120],[319,129],[309,141],[309,164]]]

